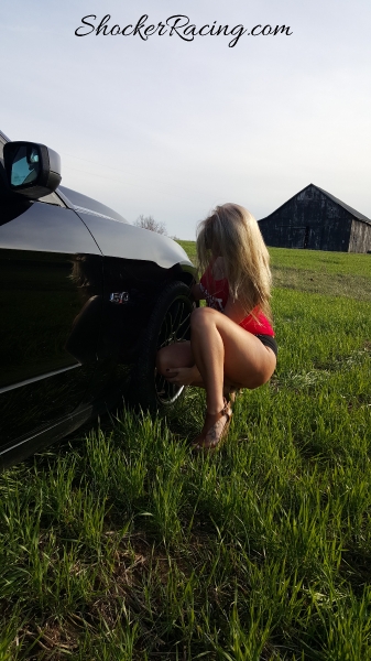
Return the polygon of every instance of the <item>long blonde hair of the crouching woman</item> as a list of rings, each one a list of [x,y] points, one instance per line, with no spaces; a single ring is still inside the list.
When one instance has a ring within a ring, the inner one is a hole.
[[[200,272],[218,257],[223,258],[223,277],[232,299],[242,304],[247,315],[258,307],[272,321],[270,254],[257,219],[238,204],[217,206],[197,227]]]

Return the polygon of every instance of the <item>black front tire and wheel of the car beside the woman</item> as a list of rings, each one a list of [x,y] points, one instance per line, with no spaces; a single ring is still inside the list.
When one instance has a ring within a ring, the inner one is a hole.
[[[183,386],[170,383],[157,373],[157,350],[189,339],[190,313],[195,303],[184,282],[171,282],[160,294],[150,317],[137,366],[132,370],[130,400],[143,410],[168,410],[182,395]]]

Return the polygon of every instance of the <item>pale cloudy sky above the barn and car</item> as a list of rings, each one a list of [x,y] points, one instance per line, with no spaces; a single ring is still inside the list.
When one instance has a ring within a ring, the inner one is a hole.
[[[96,34],[107,14],[106,31],[148,19]],[[249,34],[265,25],[285,31]],[[2,0],[0,129],[181,239],[217,204],[261,219],[309,183],[371,218],[370,25],[370,0]]]

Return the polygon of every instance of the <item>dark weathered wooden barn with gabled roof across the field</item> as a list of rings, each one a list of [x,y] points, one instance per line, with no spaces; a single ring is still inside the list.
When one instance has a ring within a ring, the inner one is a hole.
[[[371,220],[314,184],[259,220],[259,227],[268,246],[371,251]]]

